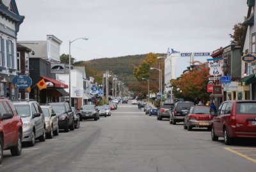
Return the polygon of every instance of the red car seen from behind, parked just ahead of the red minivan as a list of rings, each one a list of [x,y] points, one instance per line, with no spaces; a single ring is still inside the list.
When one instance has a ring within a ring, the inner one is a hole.
[[[214,111],[209,106],[192,106],[184,118],[184,129],[192,130],[193,127],[206,127],[211,130]]]

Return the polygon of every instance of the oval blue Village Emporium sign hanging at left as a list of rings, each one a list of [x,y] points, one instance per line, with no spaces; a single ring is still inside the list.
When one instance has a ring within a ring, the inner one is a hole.
[[[27,75],[16,75],[13,80],[12,84],[15,88],[26,89],[32,84],[32,79]]]

